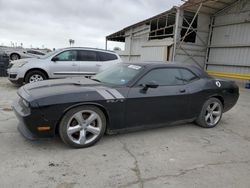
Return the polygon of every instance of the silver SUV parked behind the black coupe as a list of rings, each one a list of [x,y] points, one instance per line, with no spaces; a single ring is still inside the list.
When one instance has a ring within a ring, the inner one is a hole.
[[[11,82],[23,84],[50,78],[92,76],[121,61],[112,51],[74,47],[56,50],[40,58],[13,61],[7,72]]]

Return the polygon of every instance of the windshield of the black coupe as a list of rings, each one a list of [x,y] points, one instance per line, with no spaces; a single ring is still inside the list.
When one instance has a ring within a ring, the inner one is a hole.
[[[117,64],[93,76],[92,79],[111,85],[125,85],[141,71],[142,66],[139,65]]]

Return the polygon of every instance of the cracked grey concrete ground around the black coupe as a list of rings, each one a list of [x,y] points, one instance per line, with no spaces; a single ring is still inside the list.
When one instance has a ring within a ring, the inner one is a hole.
[[[250,187],[250,91],[213,129],[184,124],[71,149],[20,135],[16,90],[0,78],[0,187]]]

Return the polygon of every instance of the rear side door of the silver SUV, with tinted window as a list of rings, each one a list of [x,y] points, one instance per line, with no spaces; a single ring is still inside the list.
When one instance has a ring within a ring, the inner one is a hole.
[[[98,72],[99,62],[96,51],[78,50],[77,60],[80,64],[79,73],[84,76],[92,76]]]

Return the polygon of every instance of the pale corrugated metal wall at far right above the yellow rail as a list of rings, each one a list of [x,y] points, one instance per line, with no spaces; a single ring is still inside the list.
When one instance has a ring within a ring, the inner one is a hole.
[[[250,1],[215,17],[207,70],[250,74]]]

